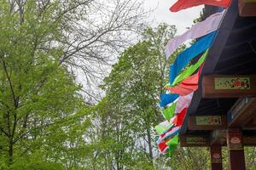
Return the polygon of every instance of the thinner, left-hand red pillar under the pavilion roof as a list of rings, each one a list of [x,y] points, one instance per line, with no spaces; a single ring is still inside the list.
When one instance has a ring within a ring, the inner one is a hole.
[[[221,145],[211,145],[210,152],[212,170],[222,170]]]

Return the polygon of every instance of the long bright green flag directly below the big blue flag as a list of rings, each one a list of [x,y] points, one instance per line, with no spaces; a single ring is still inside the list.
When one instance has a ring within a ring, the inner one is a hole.
[[[172,82],[171,86],[175,86],[177,83],[182,82],[185,78],[191,76],[198,68],[200,68],[201,65],[205,62],[208,54],[208,49],[207,51],[201,56],[200,59],[195,63],[195,65],[189,65],[189,67],[186,67],[182,73],[180,73],[177,77]],[[170,72],[171,74],[171,72]],[[170,86],[170,85],[166,85]]]

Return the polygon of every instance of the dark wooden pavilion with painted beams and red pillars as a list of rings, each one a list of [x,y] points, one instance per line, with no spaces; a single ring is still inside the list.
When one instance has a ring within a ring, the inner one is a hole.
[[[256,145],[256,2],[247,2],[227,9],[179,136],[183,147],[209,147],[212,170],[223,168],[223,146],[230,170],[246,169],[243,146]],[[206,6],[203,16],[219,11]]]

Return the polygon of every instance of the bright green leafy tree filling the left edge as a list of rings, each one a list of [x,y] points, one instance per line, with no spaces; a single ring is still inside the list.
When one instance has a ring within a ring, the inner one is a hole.
[[[83,130],[90,126],[89,109],[59,64],[62,19],[53,19],[60,7],[52,3],[42,11],[26,1],[26,13],[10,8],[1,1],[0,168],[79,168],[89,150]]]

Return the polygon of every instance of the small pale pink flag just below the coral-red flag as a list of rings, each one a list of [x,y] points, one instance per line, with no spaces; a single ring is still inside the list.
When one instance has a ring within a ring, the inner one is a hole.
[[[178,114],[183,111],[184,108],[189,108],[194,92],[185,96],[179,96],[177,98],[177,106],[175,113]]]

